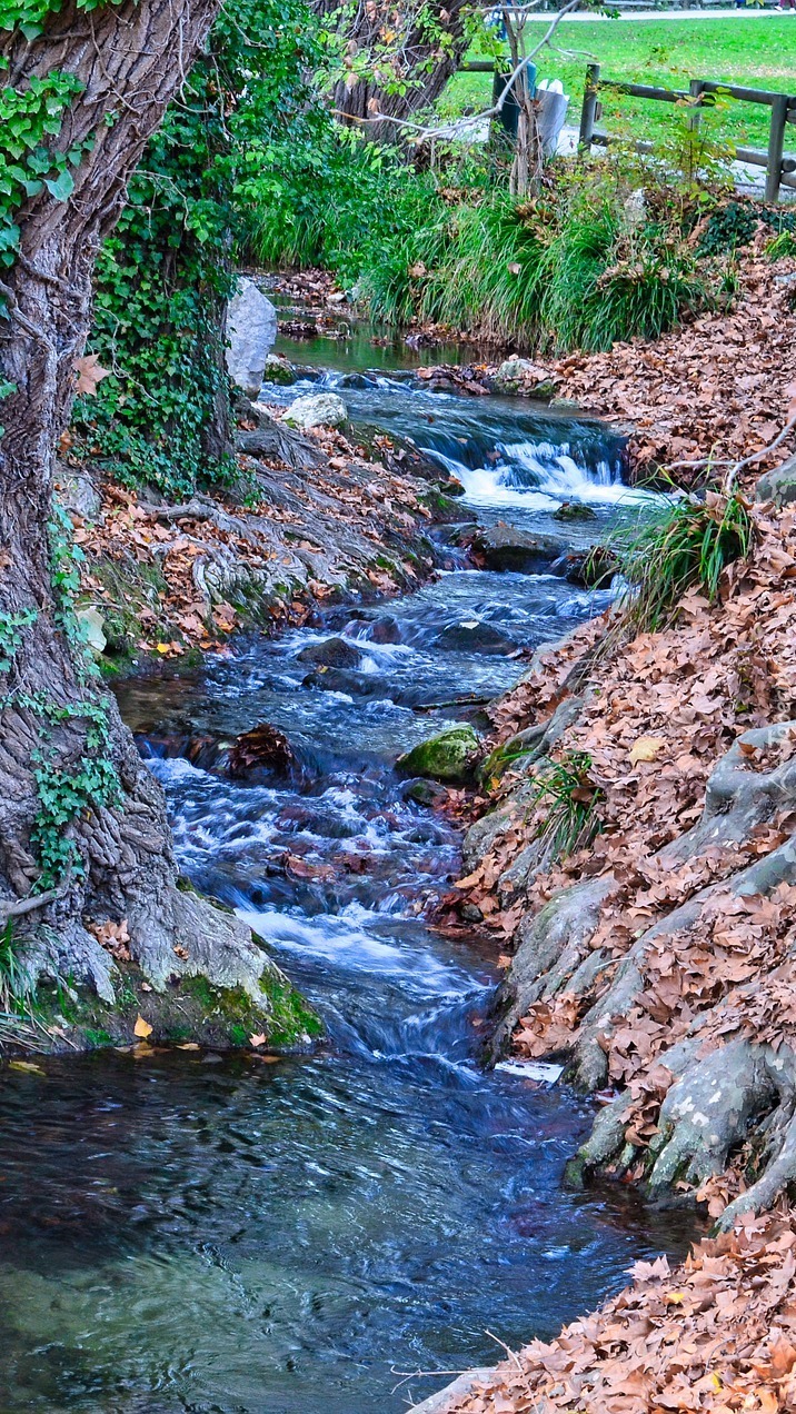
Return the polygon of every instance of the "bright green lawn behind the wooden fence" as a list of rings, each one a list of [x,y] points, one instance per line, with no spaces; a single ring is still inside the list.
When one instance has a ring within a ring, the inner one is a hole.
[[[529,30],[542,38],[549,21]],[[570,122],[580,122],[585,66],[597,61],[602,78],[631,79],[687,89],[689,79],[717,79],[747,88],[796,93],[796,13],[775,18],[710,20],[566,20],[556,35],[556,52],[539,55],[539,78],[560,78],[570,95]],[[488,107],[492,79],[486,74],[457,74],[440,99],[445,117],[467,109]],[[621,95],[602,95],[598,126],[632,137],[663,136],[672,122],[669,103],[652,103]],[[731,103],[711,116],[711,133],[747,147],[765,147],[771,110],[756,103]],[[786,147],[796,151],[796,126],[789,126]]]

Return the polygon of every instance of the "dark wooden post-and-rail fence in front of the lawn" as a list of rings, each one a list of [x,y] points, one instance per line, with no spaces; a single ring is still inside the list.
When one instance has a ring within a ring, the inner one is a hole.
[[[796,175],[793,175],[796,173],[796,158],[786,157],[785,154],[785,133],[788,123],[796,123],[796,95],[771,93],[768,89],[741,88],[735,83],[717,83],[713,79],[691,79],[687,89],[667,89],[648,83],[625,83],[618,79],[601,78],[599,64],[590,64],[585,71],[585,88],[578,137],[578,147],[581,151],[591,151],[592,143],[597,147],[608,147],[611,143],[619,141],[618,137],[612,137],[611,133],[602,133],[595,126],[601,117],[601,89],[611,89],[614,93],[626,93],[629,98],[652,99],[657,103],[690,103],[690,117],[694,126],[698,124],[700,109],[708,106],[704,102],[706,96],[710,98],[715,93],[727,93],[728,98],[738,99],[738,102],[742,103],[762,103],[766,107],[771,107],[768,150],[763,153],[756,147],[737,147],[735,156],[738,161],[748,163],[751,167],[765,167],[766,201],[779,201],[780,187],[792,187],[796,189]],[[640,153],[652,151],[652,143],[635,143],[635,147],[636,151]]]

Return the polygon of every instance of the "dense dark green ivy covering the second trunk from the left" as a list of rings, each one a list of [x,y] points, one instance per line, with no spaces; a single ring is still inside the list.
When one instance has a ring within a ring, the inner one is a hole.
[[[184,495],[235,471],[221,314],[269,150],[304,150],[310,35],[300,0],[232,0],[100,255],[89,348],[110,376],[76,402],[76,451],[123,482]]]

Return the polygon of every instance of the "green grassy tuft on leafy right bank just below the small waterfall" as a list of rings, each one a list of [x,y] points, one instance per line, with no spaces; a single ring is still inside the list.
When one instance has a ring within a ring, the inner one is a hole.
[[[704,501],[689,496],[674,502],[640,532],[628,534],[624,544],[616,540],[614,549],[631,587],[625,622],[638,633],[666,628],[683,594],[694,588],[713,602],[724,570],[749,554],[752,537],[747,502],[708,492]]]

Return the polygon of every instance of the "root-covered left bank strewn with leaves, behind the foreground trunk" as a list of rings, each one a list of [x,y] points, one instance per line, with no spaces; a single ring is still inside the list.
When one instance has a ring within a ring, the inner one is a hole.
[[[438,559],[430,525],[461,491],[387,438],[366,450],[331,428],[298,437],[259,404],[242,414],[236,462],[229,486],[180,505],[62,467],[85,556],[81,609],[106,669],[192,662],[236,628],[301,624],[320,602],[421,583]]]

